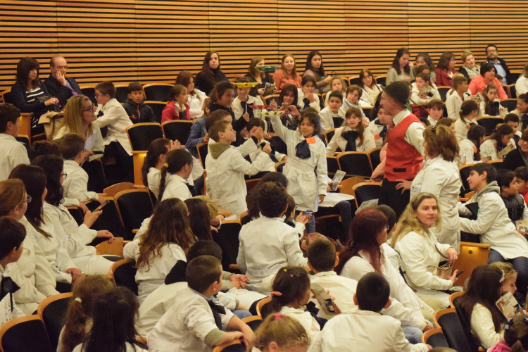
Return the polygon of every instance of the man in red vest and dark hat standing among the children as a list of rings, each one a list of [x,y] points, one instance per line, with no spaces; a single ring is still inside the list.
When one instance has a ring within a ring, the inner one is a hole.
[[[409,203],[410,183],[424,160],[424,126],[406,108],[409,94],[406,82],[392,82],[383,89],[380,102],[392,122],[387,134],[385,177],[379,204],[390,206],[398,218]]]

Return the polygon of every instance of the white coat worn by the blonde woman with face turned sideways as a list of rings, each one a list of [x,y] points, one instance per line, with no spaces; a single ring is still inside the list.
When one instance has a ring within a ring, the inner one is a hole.
[[[434,290],[451,289],[453,282],[436,276],[435,268],[441,261],[446,260],[450,247],[452,246],[449,244],[436,241],[431,230],[425,235],[411,231],[401,237],[394,249],[400,253],[401,269],[409,286]]]

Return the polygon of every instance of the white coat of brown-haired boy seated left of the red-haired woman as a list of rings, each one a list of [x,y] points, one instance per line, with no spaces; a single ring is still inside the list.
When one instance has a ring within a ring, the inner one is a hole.
[[[334,303],[341,310],[341,313],[352,313],[354,310],[358,310],[358,306],[354,304],[354,294],[356,294],[356,287],[358,286],[356,280],[339,276],[334,271],[325,271],[311,275],[310,283],[318,284],[323,289],[329,290],[330,295],[336,298]],[[313,301],[315,306],[319,308],[318,317],[328,320],[337,317],[337,315],[325,313],[316,298],[310,298],[310,301]]]

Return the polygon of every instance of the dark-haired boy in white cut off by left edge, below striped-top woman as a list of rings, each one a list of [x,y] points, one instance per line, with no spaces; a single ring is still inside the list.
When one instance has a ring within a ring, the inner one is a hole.
[[[20,111],[14,105],[0,103],[0,181],[7,180],[16,165],[29,164],[24,144],[18,142]]]

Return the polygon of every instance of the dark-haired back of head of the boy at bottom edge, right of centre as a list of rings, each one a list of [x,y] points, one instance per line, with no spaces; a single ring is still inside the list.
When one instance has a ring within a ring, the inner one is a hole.
[[[358,281],[356,299],[360,310],[379,313],[389,302],[391,287],[379,272],[369,272]]]

